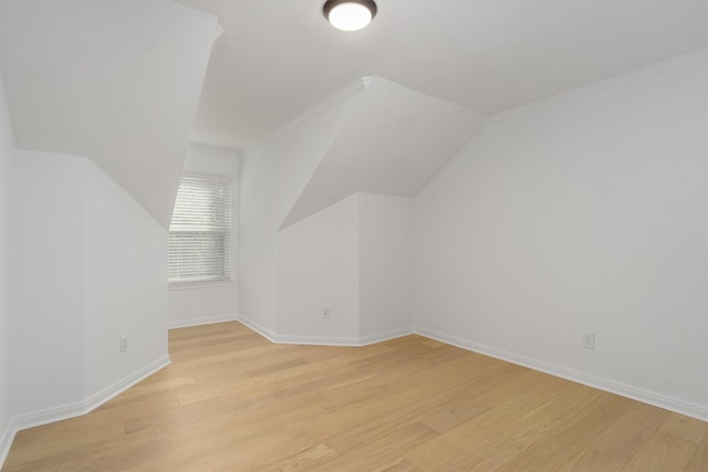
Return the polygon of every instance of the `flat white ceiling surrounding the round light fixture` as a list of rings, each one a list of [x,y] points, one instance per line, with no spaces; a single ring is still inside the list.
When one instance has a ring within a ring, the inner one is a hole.
[[[492,115],[707,46],[708,0],[175,0],[219,18],[191,139],[248,147],[362,76]]]

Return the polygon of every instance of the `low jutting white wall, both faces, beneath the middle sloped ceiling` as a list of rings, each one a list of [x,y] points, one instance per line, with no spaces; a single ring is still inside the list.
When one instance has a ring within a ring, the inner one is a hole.
[[[354,193],[280,230],[278,340],[361,345],[412,333],[413,210],[410,198]]]

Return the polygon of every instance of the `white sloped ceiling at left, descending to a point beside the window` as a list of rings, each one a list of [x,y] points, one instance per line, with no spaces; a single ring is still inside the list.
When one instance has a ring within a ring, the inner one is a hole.
[[[18,147],[88,157],[167,228],[220,33],[169,0],[1,0]]]

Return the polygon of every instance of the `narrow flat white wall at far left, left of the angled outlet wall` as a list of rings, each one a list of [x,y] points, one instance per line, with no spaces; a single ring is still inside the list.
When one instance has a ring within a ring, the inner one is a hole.
[[[12,174],[13,413],[83,399],[86,159],[19,151]]]

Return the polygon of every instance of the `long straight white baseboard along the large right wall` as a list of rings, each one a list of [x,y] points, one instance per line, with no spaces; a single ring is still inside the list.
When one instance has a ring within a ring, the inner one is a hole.
[[[419,334],[420,336],[425,336],[430,339],[435,339],[441,343],[450,344],[452,346],[461,347],[462,349],[472,350],[475,353],[483,354],[486,356],[506,360],[511,364],[517,364],[523,367],[528,367],[533,370],[539,370],[555,377],[561,377],[566,380],[575,381],[577,384],[583,384],[589,387],[597,388],[600,390],[610,391],[612,394],[616,394],[622,397],[626,397],[633,400],[642,401],[644,403],[653,405],[658,408],[664,408],[665,410],[670,410],[680,415],[686,415],[688,417],[693,417],[701,421],[708,421],[708,408],[700,405],[691,403],[688,401],[679,400],[677,398],[644,390],[642,388],[633,387],[626,384],[621,384],[606,378],[595,377],[589,374],[581,373],[579,370],[569,369],[566,367],[533,359],[531,357],[521,356],[519,354],[513,354],[502,349],[497,349],[496,347],[490,347],[490,346],[475,343],[471,340],[461,339],[444,333],[435,332],[433,329],[418,327],[416,329],[416,333]]]

